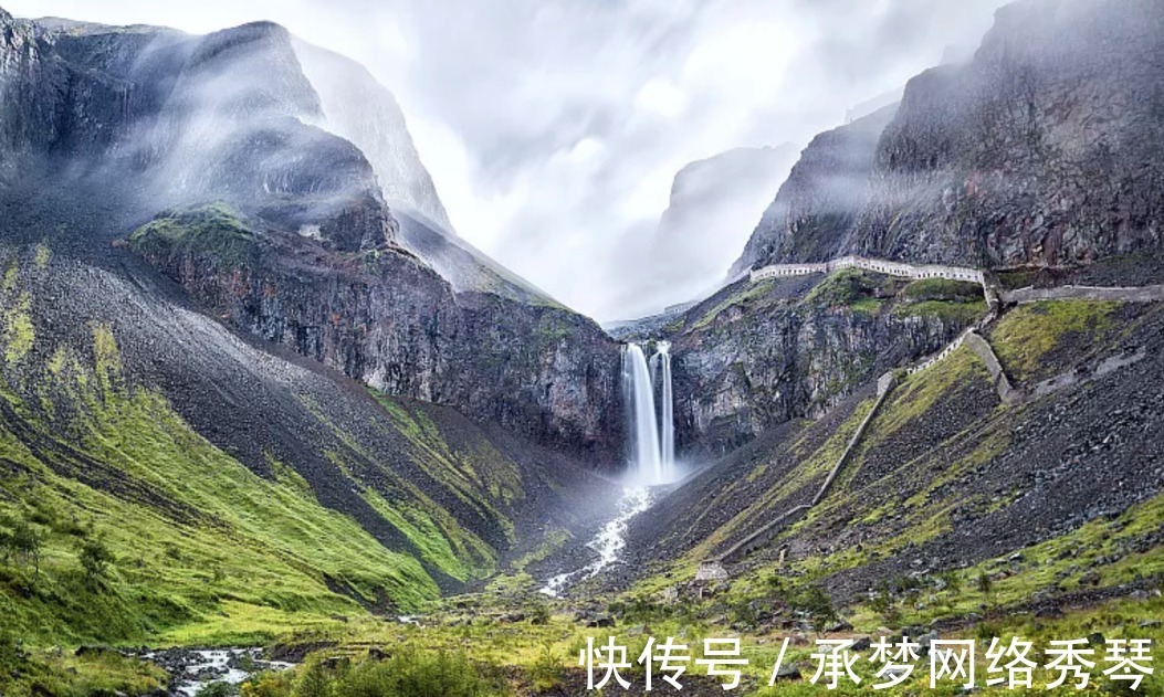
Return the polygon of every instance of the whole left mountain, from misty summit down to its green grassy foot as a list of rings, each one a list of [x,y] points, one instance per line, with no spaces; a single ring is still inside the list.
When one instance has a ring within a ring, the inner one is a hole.
[[[0,539],[49,557],[5,567],[23,636],[413,610],[601,514],[572,492],[619,465],[619,346],[407,251],[303,50],[0,12]],[[104,588],[78,540],[122,560]]]

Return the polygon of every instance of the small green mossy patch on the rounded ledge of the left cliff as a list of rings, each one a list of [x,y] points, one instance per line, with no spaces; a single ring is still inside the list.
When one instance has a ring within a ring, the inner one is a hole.
[[[196,254],[226,265],[241,264],[258,251],[254,232],[225,204],[159,213],[134,230],[129,243],[152,258]]]

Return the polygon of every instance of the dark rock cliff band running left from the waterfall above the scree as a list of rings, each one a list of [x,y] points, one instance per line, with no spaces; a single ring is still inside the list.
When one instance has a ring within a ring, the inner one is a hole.
[[[189,228],[189,215],[151,225]],[[454,294],[393,249],[328,251],[268,229],[250,232],[253,249],[225,254],[222,246],[182,246],[150,229],[135,234],[133,247],[244,332],[390,394],[455,406],[595,464],[618,461],[620,349],[585,318],[488,293]]]

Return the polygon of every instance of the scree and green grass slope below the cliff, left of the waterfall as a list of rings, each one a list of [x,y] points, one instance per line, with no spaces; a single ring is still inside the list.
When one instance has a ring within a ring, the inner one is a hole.
[[[263,378],[279,410],[208,440],[125,355],[148,321],[94,313],[51,330],[74,289],[49,257],[9,254],[0,289],[0,614],[23,641],[253,642],[413,611],[487,577],[517,540],[537,476],[450,410],[336,392],[242,344],[203,346],[293,386]],[[171,341],[148,337],[155,350]],[[223,375],[207,379],[226,379],[212,393],[246,407],[223,391],[241,382],[236,365],[212,365]],[[299,447],[263,444],[281,421]]]

